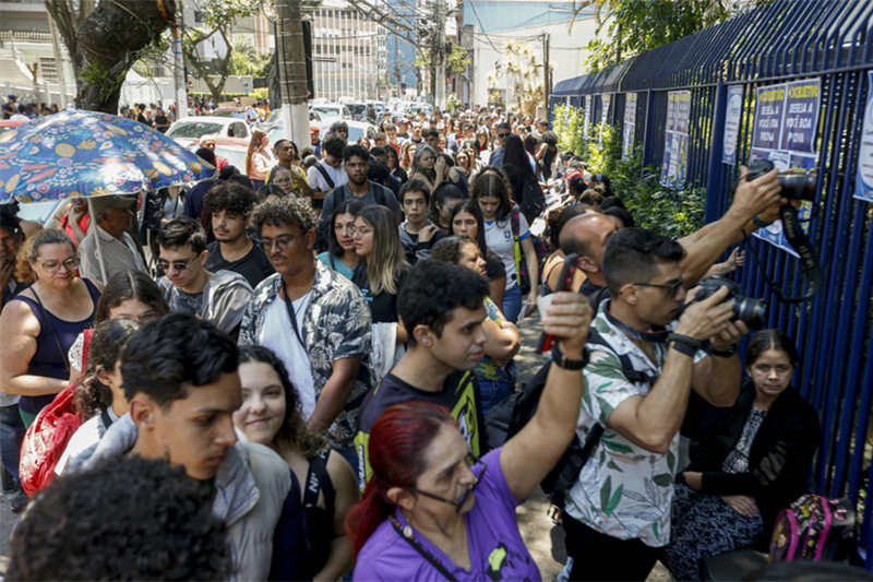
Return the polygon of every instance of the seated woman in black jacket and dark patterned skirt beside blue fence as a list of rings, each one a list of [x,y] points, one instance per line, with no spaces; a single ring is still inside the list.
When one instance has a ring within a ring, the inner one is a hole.
[[[815,408],[790,388],[797,361],[785,333],[761,331],[745,351],[751,380],[737,403],[690,408],[703,420],[673,498],[667,557],[678,580],[701,580],[704,558],[761,542],[779,510],[808,491],[820,427]]]

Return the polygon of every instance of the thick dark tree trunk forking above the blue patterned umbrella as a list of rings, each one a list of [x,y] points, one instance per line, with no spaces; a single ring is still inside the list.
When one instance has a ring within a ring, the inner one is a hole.
[[[46,0],[72,59],[80,109],[118,112],[121,84],[140,52],[176,15],[175,0]]]

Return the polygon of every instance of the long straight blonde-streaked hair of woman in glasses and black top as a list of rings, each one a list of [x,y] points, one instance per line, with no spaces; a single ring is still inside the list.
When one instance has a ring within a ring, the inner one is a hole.
[[[367,278],[373,295],[397,294],[397,275],[409,269],[400,245],[400,234],[394,222],[394,213],[385,206],[364,206],[360,217],[373,227],[373,250],[367,257]]]

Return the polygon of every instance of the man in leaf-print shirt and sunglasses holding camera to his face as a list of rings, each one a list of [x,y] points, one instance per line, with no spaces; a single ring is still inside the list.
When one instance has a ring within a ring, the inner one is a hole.
[[[691,390],[715,406],[737,399],[733,346],[749,330],[732,322],[727,288],[686,300],[684,258],[678,242],[642,228],[618,231],[606,245],[611,299],[591,326],[605,344],[588,345],[577,435],[584,442],[597,425],[605,430],[564,506],[571,580],[646,579],[670,541]],[[706,342],[711,357],[701,349]]]

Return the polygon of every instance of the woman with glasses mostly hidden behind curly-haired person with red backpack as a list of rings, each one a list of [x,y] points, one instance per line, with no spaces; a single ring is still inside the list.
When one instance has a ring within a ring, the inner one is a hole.
[[[157,283],[141,271],[125,271],[117,273],[103,290],[100,300],[97,301],[97,311],[94,313],[94,325],[99,326],[104,321],[112,319],[132,319],[147,323],[169,313],[169,310]],[[70,380],[79,378],[85,367],[86,363],[82,356],[85,352],[86,335],[87,330],[80,333],[67,354],[70,361]]]

